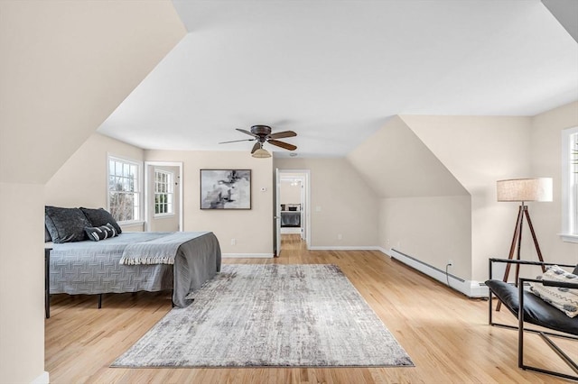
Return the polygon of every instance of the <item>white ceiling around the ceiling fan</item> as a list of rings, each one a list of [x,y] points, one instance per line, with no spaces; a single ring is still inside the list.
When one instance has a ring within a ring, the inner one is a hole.
[[[173,4],[189,33],[98,132],[248,152],[218,142],[268,124],[298,133],[284,141],[300,157],[344,156],[396,114],[535,115],[578,99],[578,44],[539,0]]]

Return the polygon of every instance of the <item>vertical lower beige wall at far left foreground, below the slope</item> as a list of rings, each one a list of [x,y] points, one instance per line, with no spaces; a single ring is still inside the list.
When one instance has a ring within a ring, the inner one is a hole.
[[[0,382],[44,371],[42,184],[0,182]]]

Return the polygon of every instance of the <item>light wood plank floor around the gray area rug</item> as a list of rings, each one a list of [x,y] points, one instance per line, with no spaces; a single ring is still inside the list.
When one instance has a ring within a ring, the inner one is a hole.
[[[337,264],[365,297],[415,367],[295,369],[108,368],[171,310],[168,293],[96,297],[55,295],[46,320],[45,370],[51,383],[552,383],[517,368],[517,333],[490,327],[487,301],[470,299],[378,251],[306,251],[284,235],[281,257],[226,263]],[[502,310],[499,320],[512,323]],[[575,349],[573,352],[578,352]],[[536,336],[527,362],[572,374]]]

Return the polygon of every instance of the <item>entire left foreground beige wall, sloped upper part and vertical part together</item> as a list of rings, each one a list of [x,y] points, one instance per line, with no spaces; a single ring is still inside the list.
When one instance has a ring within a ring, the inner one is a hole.
[[[44,184],[185,30],[170,2],[5,0],[0,19],[0,382],[42,382]]]

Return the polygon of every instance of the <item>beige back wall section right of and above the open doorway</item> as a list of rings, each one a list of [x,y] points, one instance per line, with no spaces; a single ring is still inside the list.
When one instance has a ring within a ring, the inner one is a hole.
[[[378,245],[378,197],[348,160],[275,159],[274,165],[311,170],[312,247]]]

